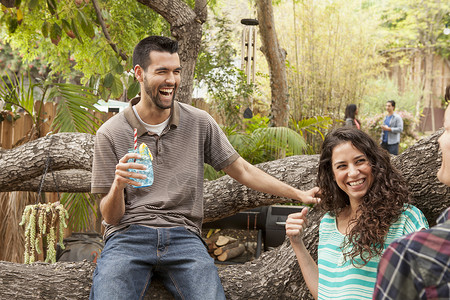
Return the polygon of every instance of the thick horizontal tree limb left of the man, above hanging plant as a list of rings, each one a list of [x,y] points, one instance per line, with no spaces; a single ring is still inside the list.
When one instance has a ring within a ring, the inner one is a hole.
[[[22,146],[0,150],[0,192],[38,191],[39,183],[50,165],[43,185],[44,192],[57,191],[51,171],[60,192],[88,192],[94,136],[87,133],[58,133]]]

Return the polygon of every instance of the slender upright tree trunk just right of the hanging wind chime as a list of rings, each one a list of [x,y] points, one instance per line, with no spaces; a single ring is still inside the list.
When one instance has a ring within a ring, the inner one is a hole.
[[[286,51],[280,47],[272,1],[256,1],[259,32],[261,35],[262,52],[267,59],[270,70],[270,88],[272,95],[272,123],[277,127],[287,127],[289,121],[289,91],[286,75]]]

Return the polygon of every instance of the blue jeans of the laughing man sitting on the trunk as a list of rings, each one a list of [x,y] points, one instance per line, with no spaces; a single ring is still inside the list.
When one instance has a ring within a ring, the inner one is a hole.
[[[131,225],[106,241],[90,299],[143,299],[153,275],[175,299],[225,299],[214,260],[184,227]]]

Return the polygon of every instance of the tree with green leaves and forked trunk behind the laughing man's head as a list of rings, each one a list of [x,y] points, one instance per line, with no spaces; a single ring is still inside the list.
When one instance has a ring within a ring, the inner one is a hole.
[[[120,96],[123,84],[129,89],[133,83],[136,86],[124,71],[132,69],[132,50],[140,39],[149,34],[171,34],[180,43],[183,65],[177,99],[191,102],[202,24],[207,18],[206,0],[189,1],[191,4],[183,0],[0,2],[8,7],[1,18],[3,35],[24,59],[45,53],[47,60],[54,62],[53,72],[81,71],[82,82],[91,78],[90,84],[104,98]]]

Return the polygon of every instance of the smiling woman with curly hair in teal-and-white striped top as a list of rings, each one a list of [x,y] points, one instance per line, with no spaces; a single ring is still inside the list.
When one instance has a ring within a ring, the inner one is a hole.
[[[308,209],[291,214],[286,234],[315,299],[372,299],[377,265],[396,238],[428,228],[389,154],[361,130],[342,127],[322,145],[317,183],[326,213],[318,263],[302,241]]]

